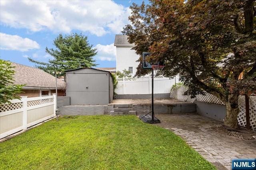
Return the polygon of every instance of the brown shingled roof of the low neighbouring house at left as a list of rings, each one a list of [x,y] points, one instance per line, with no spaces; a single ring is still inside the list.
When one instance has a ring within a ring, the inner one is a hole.
[[[55,77],[44,70],[17,63],[12,63],[12,65],[15,66],[14,84],[26,84],[25,87],[55,88]],[[66,83],[57,79],[57,87],[64,89]]]

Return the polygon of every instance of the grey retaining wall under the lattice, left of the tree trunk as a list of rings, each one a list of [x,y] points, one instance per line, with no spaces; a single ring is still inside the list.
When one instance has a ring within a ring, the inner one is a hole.
[[[196,111],[198,114],[218,121],[224,121],[226,116],[226,106],[197,101],[194,103],[196,104]]]

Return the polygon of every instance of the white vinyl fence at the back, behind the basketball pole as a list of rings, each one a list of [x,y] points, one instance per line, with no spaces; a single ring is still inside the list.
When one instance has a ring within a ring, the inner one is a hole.
[[[116,78],[118,81],[115,92],[117,94],[151,94],[151,77],[140,78]],[[173,79],[164,76],[154,77],[154,94],[170,93],[171,87],[178,83],[178,76]]]

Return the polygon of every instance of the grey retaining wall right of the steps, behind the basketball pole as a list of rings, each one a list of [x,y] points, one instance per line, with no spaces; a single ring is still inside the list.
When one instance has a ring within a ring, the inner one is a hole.
[[[144,115],[151,111],[150,104],[134,104],[133,109],[137,115]],[[155,114],[176,114],[176,113],[196,113],[196,104],[171,104],[154,105]]]

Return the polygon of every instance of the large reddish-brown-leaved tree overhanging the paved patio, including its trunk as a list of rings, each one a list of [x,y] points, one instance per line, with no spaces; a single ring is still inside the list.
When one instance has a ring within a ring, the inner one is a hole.
[[[132,25],[123,33],[136,53],[164,61],[164,75],[179,74],[186,94],[220,98],[224,124],[236,128],[239,94],[256,89],[255,0],[152,0],[130,8]],[[146,73],[140,64],[136,75]]]

